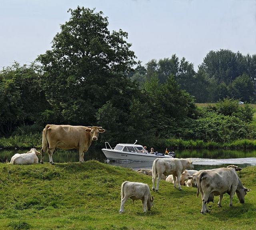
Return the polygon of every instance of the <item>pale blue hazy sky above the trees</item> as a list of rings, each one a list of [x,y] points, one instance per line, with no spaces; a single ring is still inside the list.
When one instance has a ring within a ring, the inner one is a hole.
[[[128,32],[142,64],[176,54],[197,69],[210,50],[256,54],[256,0],[0,0],[0,68],[51,49],[77,6],[102,11],[110,31]]]

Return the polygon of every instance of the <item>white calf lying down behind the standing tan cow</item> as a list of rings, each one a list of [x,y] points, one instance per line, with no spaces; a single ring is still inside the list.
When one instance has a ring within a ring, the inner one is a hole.
[[[12,165],[30,165],[30,164],[38,164],[38,157],[40,152],[36,151],[36,149],[30,149],[30,151],[22,154],[16,153],[10,163]]]

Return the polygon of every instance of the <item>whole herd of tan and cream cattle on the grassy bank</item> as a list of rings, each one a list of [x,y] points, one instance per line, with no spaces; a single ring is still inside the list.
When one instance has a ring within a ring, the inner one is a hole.
[[[72,126],[72,125],[46,125],[42,132],[41,163],[44,163],[44,155],[48,150],[49,161],[54,164],[52,155],[55,148],[77,149],[79,161],[84,162],[84,152],[88,151],[92,141],[98,140],[98,134],[104,133],[105,129],[97,126]],[[31,149],[27,153],[15,154],[10,163],[16,165],[37,164],[40,152]],[[246,192],[250,191],[242,185],[236,171],[242,170],[235,165],[227,168],[193,170],[194,166],[190,159],[157,158],[152,165],[152,170],[140,169],[138,172],[152,176],[153,191],[159,190],[161,179],[174,184],[181,190],[181,185],[197,187],[197,196],[202,197],[202,213],[209,212],[207,203],[214,200],[214,196],[220,196],[218,206],[221,206],[223,194],[230,195],[230,206],[234,194],[238,196],[240,203],[244,203]],[[167,176],[167,178],[166,178]],[[156,187],[155,187],[156,182]],[[150,210],[153,205],[153,196],[150,194],[148,184],[125,181],[121,186],[120,213],[124,212],[125,202],[131,198],[142,200],[143,210]]]

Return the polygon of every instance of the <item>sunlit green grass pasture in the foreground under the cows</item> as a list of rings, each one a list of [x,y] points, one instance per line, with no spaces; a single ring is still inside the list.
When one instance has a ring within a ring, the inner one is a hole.
[[[240,204],[229,196],[222,208],[215,202],[211,212],[200,214],[201,198],[196,188],[160,182],[159,192],[151,192],[154,206],[143,213],[139,200],[129,200],[119,214],[120,186],[125,180],[144,182],[150,176],[98,161],[56,165],[0,164],[0,229],[75,230],[159,230],[159,229],[255,229],[256,167],[239,172],[244,186],[252,189]]]

